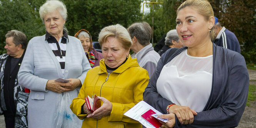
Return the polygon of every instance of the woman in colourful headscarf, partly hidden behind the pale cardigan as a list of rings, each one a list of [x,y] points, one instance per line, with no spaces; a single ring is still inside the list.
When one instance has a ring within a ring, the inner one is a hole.
[[[95,66],[99,66],[100,60],[103,58],[103,55],[102,53],[97,52],[92,46],[92,36],[90,35],[90,33],[85,29],[81,29],[77,33],[75,33],[75,37],[81,41],[85,55],[89,60],[90,66],[92,68],[94,68]]]

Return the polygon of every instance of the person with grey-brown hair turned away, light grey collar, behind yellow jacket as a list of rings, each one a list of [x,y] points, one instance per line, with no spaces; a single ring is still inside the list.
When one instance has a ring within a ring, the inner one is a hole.
[[[127,30],[132,38],[131,49],[134,51],[131,57],[137,58],[139,66],[146,69],[151,77],[156,70],[160,55],[154,51],[150,43],[152,32],[150,25],[147,22],[133,23]]]

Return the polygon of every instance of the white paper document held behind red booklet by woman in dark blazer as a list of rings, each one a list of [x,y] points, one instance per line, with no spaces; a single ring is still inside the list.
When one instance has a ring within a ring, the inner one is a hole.
[[[151,125],[149,122],[144,120],[144,118],[142,118],[142,116],[141,116],[142,114],[146,113],[146,111],[148,111],[150,109],[153,110],[154,112],[156,112],[157,115],[162,115],[161,112],[157,111],[155,108],[153,108],[152,106],[150,106],[143,100],[140,101],[139,103],[137,103],[130,110],[126,111],[126,113],[124,113],[124,115],[128,116],[134,120],[139,121],[142,125],[144,125],[147,128],[156,128],[153,125]]]

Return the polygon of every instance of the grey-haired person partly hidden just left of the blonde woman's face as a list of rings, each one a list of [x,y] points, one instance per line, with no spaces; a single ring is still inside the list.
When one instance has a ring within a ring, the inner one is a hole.
[[[159,55],[161,56],[170,48],[182,48],[183,43],[179,39],[179,35],[176,31],[176,29],[170,30],[167,32],[166,37],[165,37],[165,45],[162,47],[161,50],[158,51]]]

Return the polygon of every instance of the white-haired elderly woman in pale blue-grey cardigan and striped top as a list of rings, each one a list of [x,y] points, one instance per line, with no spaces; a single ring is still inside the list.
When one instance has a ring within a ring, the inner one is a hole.
[[[80,40],[67,35],[63,30],[67,18],[64,3],[58,0],[47,1],[40,7],[39,13],[46,34],[28,42],[18,81],[31,90],[28,99],[28,127],[56,128],[57,108],[62,107],[58,106],[58,99],[61,99],[59,96],[69,93],[72,99],[77,97],[90,65]],[[55,81],[58,78],[69,82]]]

